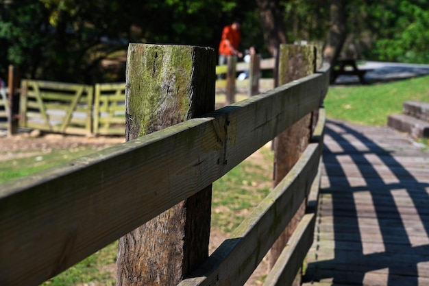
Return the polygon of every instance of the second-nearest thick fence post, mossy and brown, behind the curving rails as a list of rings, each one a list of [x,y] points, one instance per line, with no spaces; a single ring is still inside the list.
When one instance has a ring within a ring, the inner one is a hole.
[[[299,45],[281,45],[279,57],[279,84],[298,80],[315,72],[315,47]],[[293,126],[280,133],[274,141],[273,184],[276,186],[292,169],[299,156],[306,149],[311,133],[311,113],[299,119]],[[270,265],[273,267],[293,230],[305,213],[306,202],[299,210],[271,248]]]

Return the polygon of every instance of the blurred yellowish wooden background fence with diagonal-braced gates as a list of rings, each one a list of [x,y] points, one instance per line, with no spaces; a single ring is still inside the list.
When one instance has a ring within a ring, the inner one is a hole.
[[[252,66],[250,66],[252,68]],[[234,89],[247,89],[249,95],[258,93],[259,71],[273,69],[273,58],[262,60],[251,78],[237,82]],[[246,71],[249,64],[240,62],[232,67],[236,71]],[[216,73],[224,73],[227,66],[216,67]],[[254,75],[255,74],[255,75]],[[235,77],[234,77],[235,78]],[[267,86],[273,87],[273,79]],[[234,82],[236,82],[234,80]],[[217,81],[220,88],[225,88],[225,80]],[[222,87],[223,86],[223,87]],[[231,89],[231,88],[230,88]],[[252,93],[253,91],[253,93]],[[234,98],[234,94],[229,98]],[[4,117],[7,126],[6,97],[0,98],[0,117]],[[235,100],[232,99],[232,102]],[[63,82],[45,82],[40,80],[21,81],[20,120],[22,128],[35,128],[47,132],[84,135],[123,135],[125,128],[125,82],[113,84],[95,84],[87,86]],[[231,100],[230,100],[231,103]],[[4,113],[4,114],[3,114]]]

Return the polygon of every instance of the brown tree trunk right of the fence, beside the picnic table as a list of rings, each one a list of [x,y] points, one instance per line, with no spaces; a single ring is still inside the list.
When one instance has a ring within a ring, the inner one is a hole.
[[[346,36],[345,0],[332,0],[330,5],[330,32],[323,58],[334,65],[343,49]]]

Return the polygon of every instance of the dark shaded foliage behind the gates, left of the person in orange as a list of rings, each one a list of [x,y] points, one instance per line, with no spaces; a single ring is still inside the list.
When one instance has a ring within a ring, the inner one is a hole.
[[[14,64],[23,78],[102,82],[101,60],[126,51],[127,43],[217,49],[233,16],[251,17],[243,38],[252,35],[251,44],[262,45],[255,7],[245,0],[8,1],[0,5],[0,75]],[[116,80],[125,80],[125,73]]]

